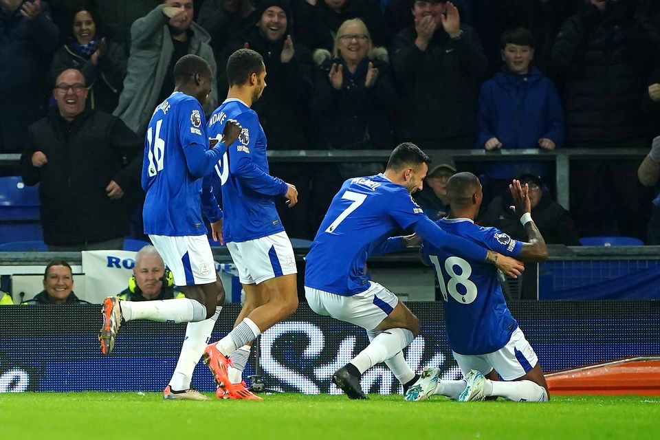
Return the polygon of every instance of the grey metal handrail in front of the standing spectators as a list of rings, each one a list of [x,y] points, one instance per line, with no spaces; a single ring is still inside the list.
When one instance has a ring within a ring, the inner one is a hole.
[[[387,162],[389,150],[270,150],[270,162]],[[481,148],[460,150],[428,149],[434,157],[453,157],[463,162],[493,162],[498,160],[542,160],[554,161],[556,166],[555,188],[557,201],[569,209],[569,170],[573,160],[589,159],[643,159],[646,148],[558,148],[553,151],[538,148],[520,150],[485,151]],[[21,155],[0,154],[0,165],[18,165]]]

